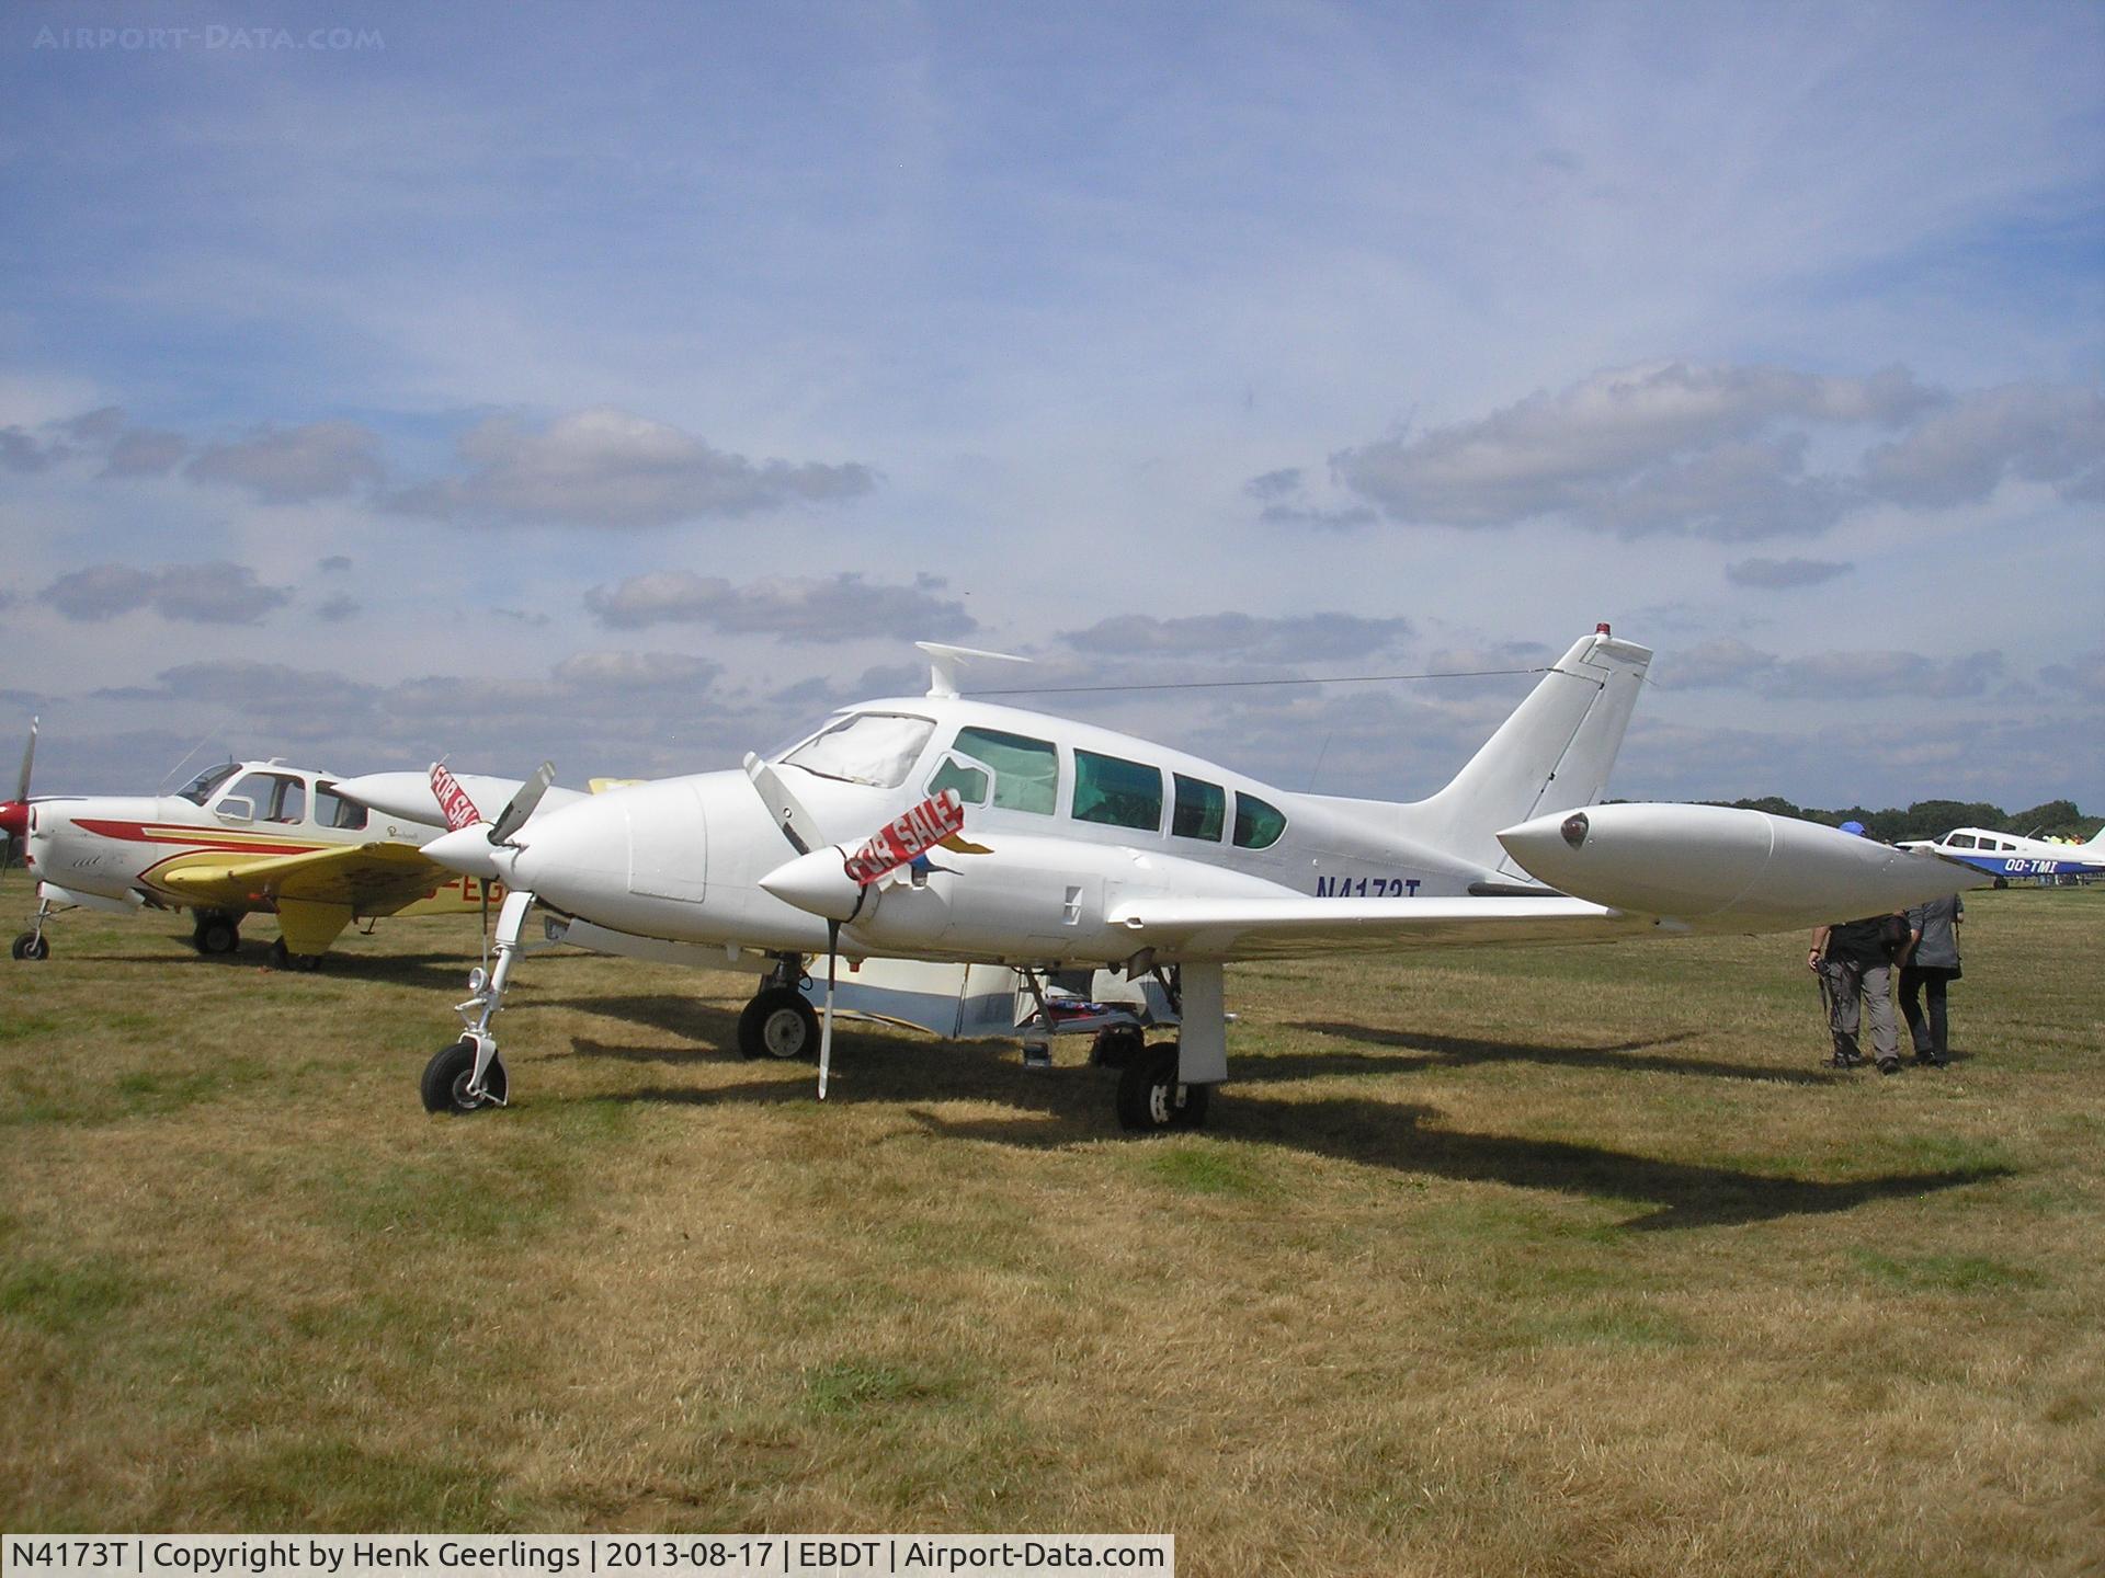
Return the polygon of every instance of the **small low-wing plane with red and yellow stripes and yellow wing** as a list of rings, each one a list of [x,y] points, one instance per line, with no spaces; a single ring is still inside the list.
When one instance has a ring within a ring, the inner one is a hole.
[[[38,896],[17,959],[51,957],[44,928],[65,909],[189,909],[200,953],[232,953],[242,919],[269,913],[272,964],[312,970],[352,922],[476,913],[501,901],[503,884],[446,871],[421,846],[480,823],[478,802],[505,806],[499,825],[524,825],[552,776],[522,785],[440,768],[429,778],[339,778],[274,757],[215,766],[173,795],[32,800],[34,753],[32,724],[17,795],[0,802],[0,831],[25,846]],[[549,804],[577,797],[558,789]]]

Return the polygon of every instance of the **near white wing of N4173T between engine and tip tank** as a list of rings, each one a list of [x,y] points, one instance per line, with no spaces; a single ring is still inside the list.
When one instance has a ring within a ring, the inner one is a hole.
[[[1612,943],[1659,928],[1652,915],[1585,898],[1135,898],[1111,913],[1175,959],[1292,959],[1484,943]]]

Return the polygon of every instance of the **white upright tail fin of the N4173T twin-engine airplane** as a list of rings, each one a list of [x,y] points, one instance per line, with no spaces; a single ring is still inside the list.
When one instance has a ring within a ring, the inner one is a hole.
[[[1499,829],[1606,793],[1650,663],[1648,646],[1619,642],[1606,625],[1577,642],[1446,789],[1402,808],[1408,835],[1526,882]]]

